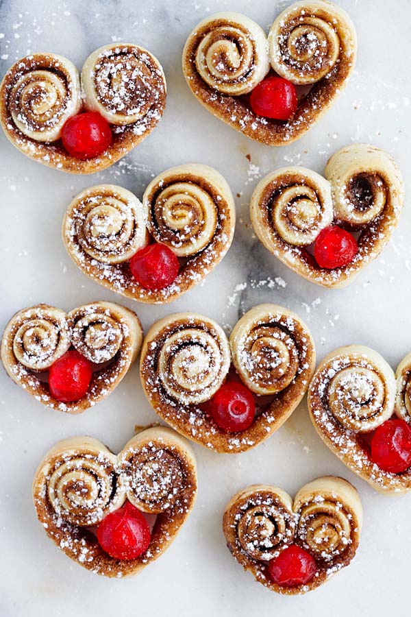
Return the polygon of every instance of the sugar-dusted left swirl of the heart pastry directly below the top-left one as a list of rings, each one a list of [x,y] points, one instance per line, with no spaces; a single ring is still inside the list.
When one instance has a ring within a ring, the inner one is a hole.
[[[142,204],[133,193],[114,184],[99,184],[71,202],[62,234],[100,263],[122,263],[147,245]]]

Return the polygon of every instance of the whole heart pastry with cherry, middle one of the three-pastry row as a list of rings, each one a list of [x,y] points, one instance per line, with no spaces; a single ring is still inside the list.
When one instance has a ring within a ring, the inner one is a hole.
[[[160,319],[142,344],[140,375],[153,409],[176,431],[217,452],[244,452],[277,431],[305,394],[314,341],[301,319],[260,304],[229,338],[208,317]]]

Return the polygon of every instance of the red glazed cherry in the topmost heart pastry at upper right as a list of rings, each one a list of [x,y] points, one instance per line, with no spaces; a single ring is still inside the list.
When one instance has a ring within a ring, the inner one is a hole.
[[[295,86],[283,77],[266,77],[252,90],[250,104],[258,116],[288,120],[298,105]]]

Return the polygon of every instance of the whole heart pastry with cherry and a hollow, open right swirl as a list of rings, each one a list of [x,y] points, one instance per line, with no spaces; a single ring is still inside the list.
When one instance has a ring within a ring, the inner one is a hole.
[[[360,143],[336,152],[324,175],[304,167],[269,173],[251,197],[251,222],[262,244],[297,274],[344,287],[390,239],[403,180],[393,158]]]

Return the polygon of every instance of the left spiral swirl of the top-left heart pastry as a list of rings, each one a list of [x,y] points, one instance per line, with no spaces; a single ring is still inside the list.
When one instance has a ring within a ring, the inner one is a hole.
[[[10,71],[8,110],[18,130],[36,141],[58,140],[66,120],[81,107],[74,64],[53,53],[36,53]]]

